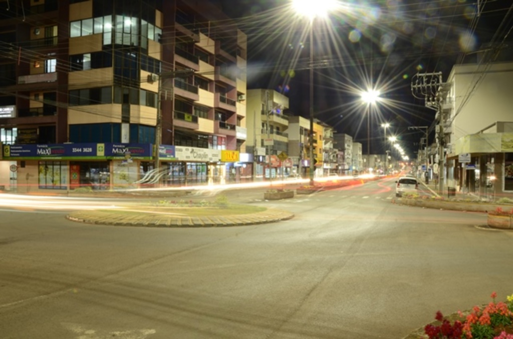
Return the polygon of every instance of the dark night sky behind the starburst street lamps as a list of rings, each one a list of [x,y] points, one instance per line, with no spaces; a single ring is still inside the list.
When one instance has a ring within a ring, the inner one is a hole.
[[[295,14],[289,0],[214,2],[248,36],[248,89],[277,90],[289,97],[295,115],[308,117],[308,19]],[[370,152],[384,153],[380,125],[387,121],[392,125],[387,136],[398,135],[407,155],[415,158],[422,134],[408,126],[431,126],[436,112],[412,95],[411,77],[442,72],[445,81],[457,62],[475,61],[484,44],[507,35],[513,2],[482,0],[479,18],[476,0],[344,4],[314,22],[315,117],[362,142],[365,154],[368,111],[358,90],[372,84],[384,100],[370,110]],[[430,142],[433,138],[431,132]]]

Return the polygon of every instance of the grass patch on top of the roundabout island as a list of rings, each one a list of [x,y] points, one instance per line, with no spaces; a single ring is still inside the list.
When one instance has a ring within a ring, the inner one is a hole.
[[[208,216],[233,216],[251,213],[259,213],[267,208],[250,205],[227,205],[223,207],[168,207],[168,206],[148,206],[141,211],[133,211],[128,209],[102,209],[101,211],[122,214],[122,215],[140,215],[141,213],[173,213],[180,216],[190,217],[208,217]]]

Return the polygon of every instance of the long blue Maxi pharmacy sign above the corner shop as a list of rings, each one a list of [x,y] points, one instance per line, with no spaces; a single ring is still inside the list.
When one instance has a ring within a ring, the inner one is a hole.
[[[4,158],[8,160],[98,160],[151,159],[151,144],[136,143],[65,143],[4,145]]]

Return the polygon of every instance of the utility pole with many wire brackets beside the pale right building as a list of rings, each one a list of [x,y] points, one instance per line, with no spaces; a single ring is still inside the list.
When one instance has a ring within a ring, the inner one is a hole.
[[[438,184],[439,194],[443,194],[443,180],[445,173],[444,166],[444,128],[443,128],[443,112],[442,101],[444,95],[445,84],[442,81],[442,72],[437,73],[417,73],[411,78],[411,93],[418,99],[423,99],[427,108],[437,111],[435,116],[438,119],[437,139],[438,139]]]

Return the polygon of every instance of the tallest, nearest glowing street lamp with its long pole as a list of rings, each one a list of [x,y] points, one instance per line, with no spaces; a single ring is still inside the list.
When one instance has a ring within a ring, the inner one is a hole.
[[[292,0],[296,13],[310,19],[310,185],[313,185],[313,20],[315,17],[325,17],[335,8],[336,0]]]

